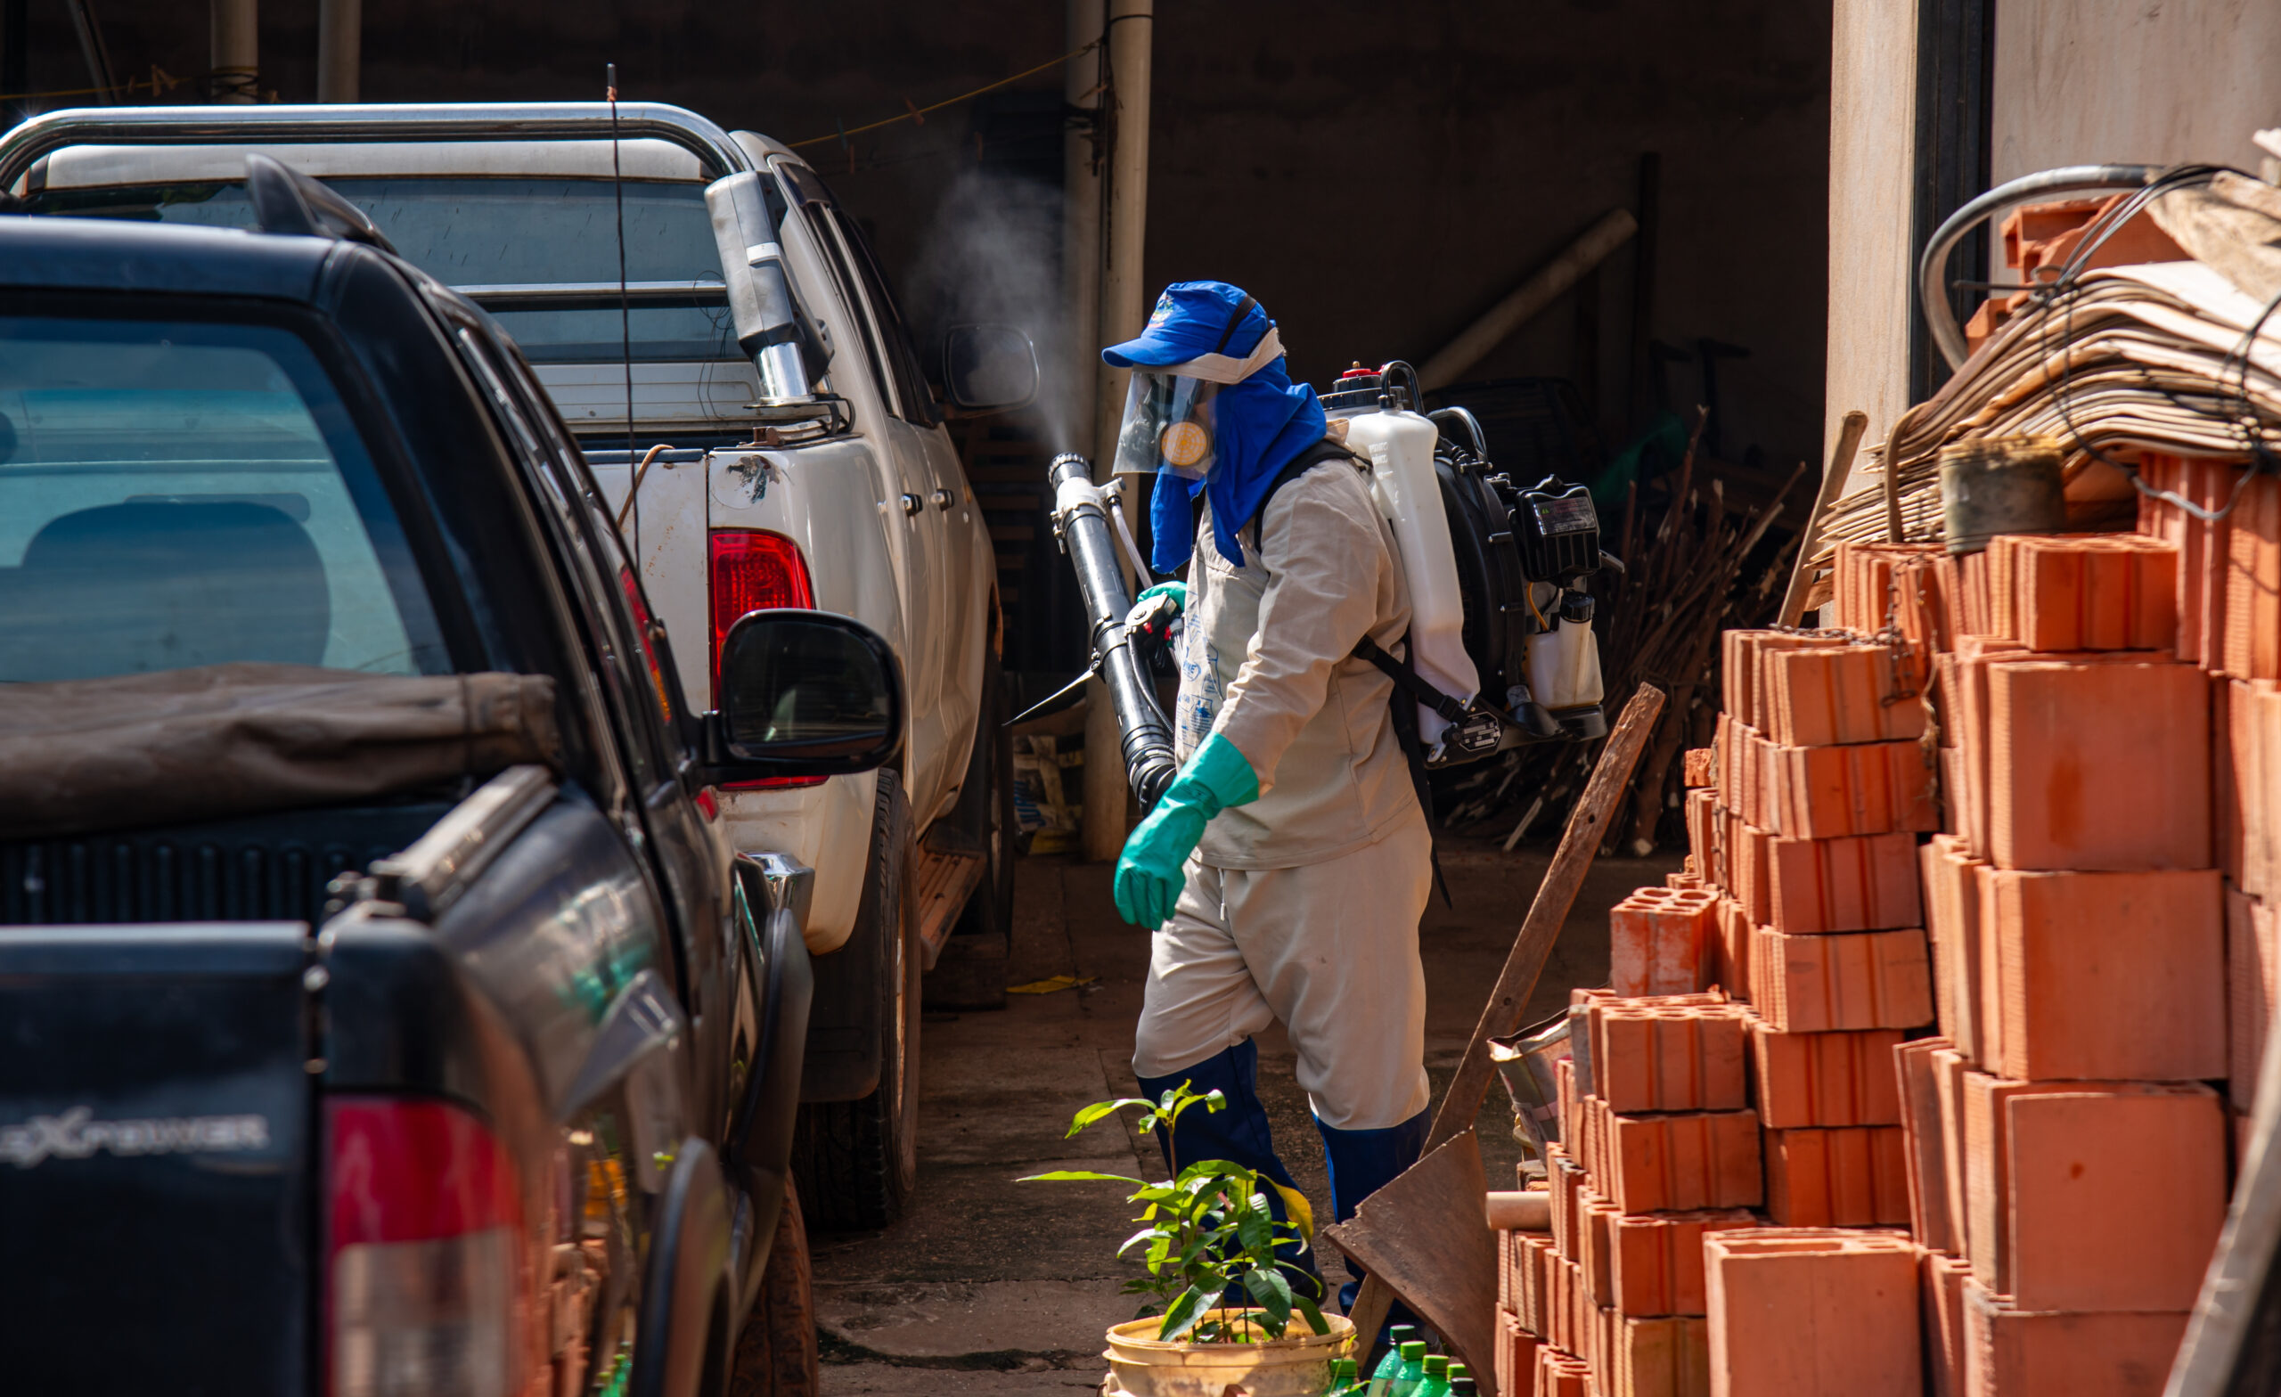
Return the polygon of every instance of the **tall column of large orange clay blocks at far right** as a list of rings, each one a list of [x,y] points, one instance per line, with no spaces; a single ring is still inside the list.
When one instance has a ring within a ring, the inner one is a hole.
[[[1838,625],[1898,623],[1937,680],[1941,1036],[1893,1052],[1932,1390],[2160,1392],[2226,1203],[2229,899],[2256,922],[2217,867],[2178,548],[1998,536],[1836,573]]]

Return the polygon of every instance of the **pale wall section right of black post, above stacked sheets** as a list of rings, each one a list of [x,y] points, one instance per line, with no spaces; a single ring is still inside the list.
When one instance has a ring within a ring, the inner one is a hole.
[[[2281,126],[2274,0],[1998,0],[1996,180],[2055,164],[2258,169]]]

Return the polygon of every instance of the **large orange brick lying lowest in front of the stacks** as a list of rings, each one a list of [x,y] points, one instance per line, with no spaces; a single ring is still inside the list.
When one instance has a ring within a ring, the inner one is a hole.
[[[1916,1244],[1750,1228],[1704,1237],[1713,1397],[1921,1397]]]

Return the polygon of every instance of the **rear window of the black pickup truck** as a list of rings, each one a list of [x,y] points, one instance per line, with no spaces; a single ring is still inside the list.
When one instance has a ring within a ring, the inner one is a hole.
[[[449,673],[340,393],[262,324],[0,317],[0,683]]]

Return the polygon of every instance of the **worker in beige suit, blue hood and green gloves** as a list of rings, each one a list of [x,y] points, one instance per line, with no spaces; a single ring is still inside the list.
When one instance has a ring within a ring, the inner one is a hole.
[[[1115,870],[1118,911],[1156,931],[1134,1075],[1150,1098],[1227,1096],[1163,1141],[1182,1162],[1289,1185],[1255,1089],[1252,1036],[1280,1018],[1346,1219],[1417,1162],[1428,1125],[1432,840],[1394,685],[1353,657],[1410,630],[1401,557],[1369,463],[1325,441],[1323,404],[1243,290],[1170,285],[1102,358],[1134,370],[1115,470],[1156,477],[1152,562],[1188,568],[1136,603],[1184,625],[1182,769]]]

